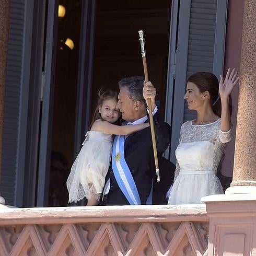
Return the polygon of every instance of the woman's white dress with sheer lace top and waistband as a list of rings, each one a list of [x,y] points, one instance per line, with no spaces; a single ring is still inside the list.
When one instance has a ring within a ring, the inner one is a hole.
[[[176,172],[168,204],[202,204],[201,197],[223,194],[216,176],[224,143],[231,139],[220,130],[220,119],[210,124],[182,124],[176,149]]]

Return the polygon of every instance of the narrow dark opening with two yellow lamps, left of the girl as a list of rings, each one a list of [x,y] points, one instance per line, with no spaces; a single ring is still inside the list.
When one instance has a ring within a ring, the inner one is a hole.
[[[68,205],[66,180],[74,154],[81,11],[82,0],[59,1],[48,206]]]

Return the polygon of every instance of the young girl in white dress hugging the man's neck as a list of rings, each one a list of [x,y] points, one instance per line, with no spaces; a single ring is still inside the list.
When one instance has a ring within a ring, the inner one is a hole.
[[[112,134],[129,135],[149,126],[117,125],[120,112],[115,108],[117,93],[111,90],[99,91],[98,104],[94,111],[91,129],[86,133],[81,148],[67,179],[68,202],[77,202],[84,197],[87,205],[97,205],[104,187],[112,153]]]

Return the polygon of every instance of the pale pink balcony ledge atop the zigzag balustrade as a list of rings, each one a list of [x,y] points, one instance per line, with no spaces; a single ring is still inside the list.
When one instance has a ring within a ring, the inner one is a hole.
[[[205,205],[0,208],[0,225],[186,221],[208,222]]]

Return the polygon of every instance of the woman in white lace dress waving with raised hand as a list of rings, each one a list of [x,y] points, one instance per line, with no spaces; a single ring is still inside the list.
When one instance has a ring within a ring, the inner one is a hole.
[[[184,99],[197,117],[181,126],[168,204],[201,204],[203,196],[223,194],[216,173],[224,144],[231,139],[230,94],[238,79],[230,68],[225,79],[220,76],[220,83],[212,73],[189,77]]]

